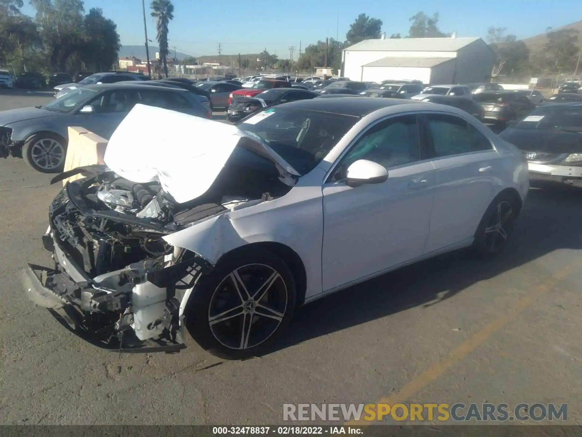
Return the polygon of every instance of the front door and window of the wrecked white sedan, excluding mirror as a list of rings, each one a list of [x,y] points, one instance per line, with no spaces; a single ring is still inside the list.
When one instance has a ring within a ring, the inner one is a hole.
[[[423,254],[434,194],[434,167],[423,160],[423,138],[416,115],[385,119],[332,168],[323,186],[324,291]],[[347,186],[347,167],[360,159],[384,165],[388,179]]]

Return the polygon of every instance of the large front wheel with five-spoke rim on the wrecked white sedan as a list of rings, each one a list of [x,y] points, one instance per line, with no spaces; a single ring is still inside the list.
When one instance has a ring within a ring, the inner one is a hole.
[[[228,360],[268,351],[289,326],[295,280],[279,256],[261,248],[227,255],[201,277],[187,306],[186,326],[210,353]]]

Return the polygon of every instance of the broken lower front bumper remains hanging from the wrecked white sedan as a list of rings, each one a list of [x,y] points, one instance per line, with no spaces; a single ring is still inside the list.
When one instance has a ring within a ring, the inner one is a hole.
[[[47,308],[70,332],[94,346],[125,353],[173,353],[186,347],[185,319],[179,318],[181,295],[177,284],[175,295],[165,303],[163,316],[155,321],[156,325],[163,327],[162,333],[151,339],[140,340],[132,329],[131,292],[127,294],[114,290],[114,287],[105,291],[105,285],[117,283],[117,276],[96,283],[77,267],[51,235],[43,235],[42,242],[46,249],[52,251],[55,268],[27,264],[21,273],[24,291],[30,301]],[[132,272],[128,269],[124,273],[130,277]],[[194,267],[191,274],[194,283],[206,272],[204,267]],[[147,281],[159,286],[172,283],[175,281],[172,267],[151,270],[147,273]]]

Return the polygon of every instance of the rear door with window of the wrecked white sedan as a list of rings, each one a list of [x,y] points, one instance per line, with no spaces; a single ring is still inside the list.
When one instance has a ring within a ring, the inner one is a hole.
[[[473,124],[453,114],[431,113],[427,144],[435,168],[434,206],[425,253],[473,238],[502,175],[502,160]]]

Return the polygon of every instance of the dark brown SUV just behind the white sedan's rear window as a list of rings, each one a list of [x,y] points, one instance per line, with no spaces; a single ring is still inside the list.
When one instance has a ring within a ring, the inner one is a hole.
[[[474,101],[485,111],[485,121],[505,125],[523,117],[535,108],[526,96],[514,91],[484,91],[474,95]]]

